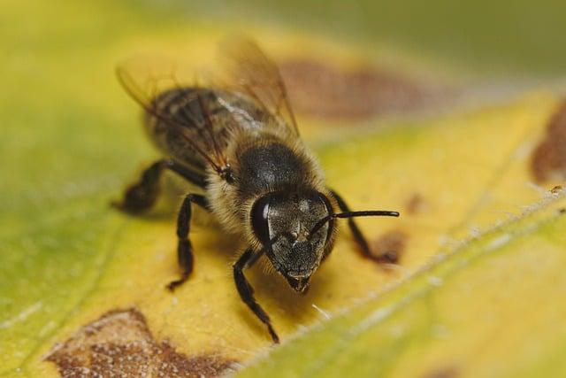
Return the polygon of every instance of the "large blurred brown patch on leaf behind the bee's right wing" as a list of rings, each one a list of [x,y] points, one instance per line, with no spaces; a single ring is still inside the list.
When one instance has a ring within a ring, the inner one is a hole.
[[[279,69],[297,112],[321,118],[370,118],[444,104],[455,89],[400,73],[360,66],[349,71],[315,59],[292,59]]]

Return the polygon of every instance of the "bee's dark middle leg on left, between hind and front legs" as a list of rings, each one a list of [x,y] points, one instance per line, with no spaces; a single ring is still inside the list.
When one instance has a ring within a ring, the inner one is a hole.
[[[188,276],[193,271],[193,245],[188,239],[188,232],[191,224],[192,206],[198,204],[203,209],[208,210],[208,201],[206,197],[199,194],[188,194],[183,203],[180,205],[179,217],[177,218],[177,236],[179,243],[177,244],[177,258],[182,273],[179,280],[169,282],[167,289],[173,291],[183,282],[188,280]]]

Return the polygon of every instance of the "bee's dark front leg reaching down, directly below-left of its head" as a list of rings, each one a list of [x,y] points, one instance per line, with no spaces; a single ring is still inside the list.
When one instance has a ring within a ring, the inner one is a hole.
[[[246,276],[243,273],[243,269],[252,266],[260,256],[261,252],[254,253],[251,249],[245,251],[233,265],[233,280],[236,282],[236,288],[238,289],[241,300],[248,305],[249,309],[256,314],[256,317],[267,326],[267,330],[272,336],[273,343],[279,343],[279,336],[277,336],[272,327],[272,320],[269,319],[267,312],[257,304],[256,298],[254,297],[254,289],[251,287],[248,280],[246,280]]]

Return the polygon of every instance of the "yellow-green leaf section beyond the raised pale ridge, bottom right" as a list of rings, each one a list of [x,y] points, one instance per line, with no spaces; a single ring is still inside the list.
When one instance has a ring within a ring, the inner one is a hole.
[[[565,205],[548,196],[237,376],[561,376]]]

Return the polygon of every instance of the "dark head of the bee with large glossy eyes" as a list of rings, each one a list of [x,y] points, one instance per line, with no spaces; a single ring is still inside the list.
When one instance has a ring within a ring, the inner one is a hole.
[[[298,292],[308,289],[310,276],[320,265],[333,221],[311,231],[332,213],[328,199],[317,191],[270,193],[252,206],[254,234],[272,266]]]

